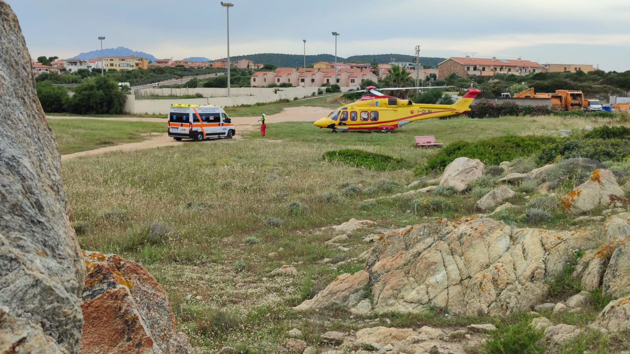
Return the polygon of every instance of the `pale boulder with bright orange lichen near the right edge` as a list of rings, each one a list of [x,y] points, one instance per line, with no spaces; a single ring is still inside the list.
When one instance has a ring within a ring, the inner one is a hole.
[[[562,198],[562,207],[571,214],[583,214],[597,207],[608,207],[624,198],[617,178],[607,169],[596,169],[590,178]]]

